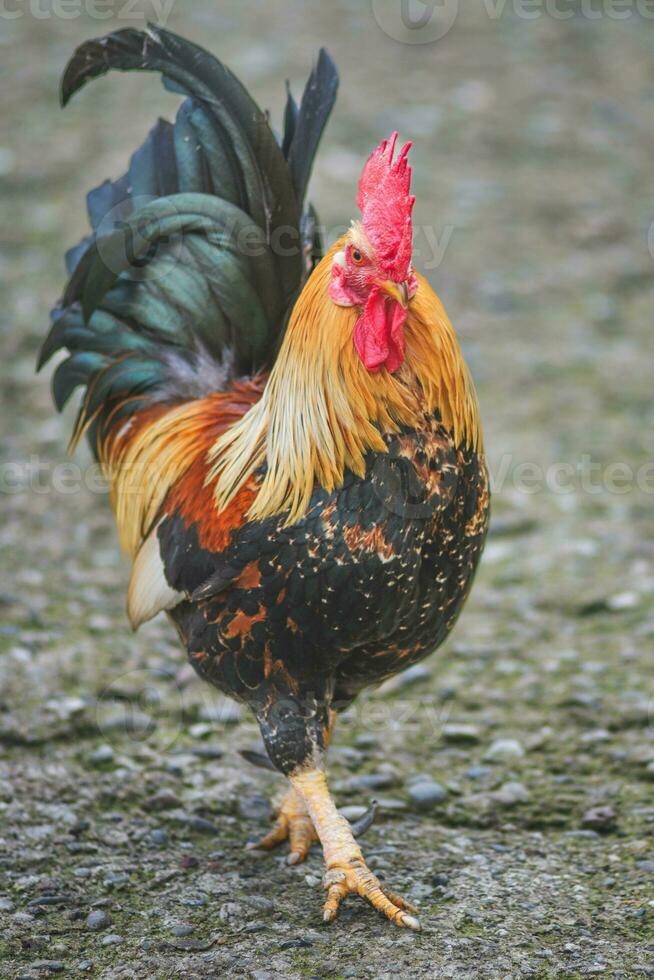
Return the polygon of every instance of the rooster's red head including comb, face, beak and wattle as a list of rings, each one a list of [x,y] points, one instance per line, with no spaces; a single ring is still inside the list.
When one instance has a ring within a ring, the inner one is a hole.
[[[385,367],[391,374],[404,361],[407,308],[418,288],[411,268],[411,143],[393,159],[396,142],[393,133],[363,168],[357,197],[361,220],[352,223],[333,257],[329,285],[338,306],[360,308],[353,339],[365,367]]]

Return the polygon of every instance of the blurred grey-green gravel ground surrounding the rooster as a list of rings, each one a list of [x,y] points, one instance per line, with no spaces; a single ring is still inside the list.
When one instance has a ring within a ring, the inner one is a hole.
[[[324,928],[317,853],[244,851],[279,785],[238,754],[256,728],[165,620],[131,635],[102,482],[64,462],[72,414],[33,375],[83,194],[176,104],[113,77],[60,113],[58,75],[155,10],[0,15],[3,978],[654,975],[653,26],[635,4],[474,6],[425,44],[354,0],[177,0],[168,20],[276,112],[329,46],[330,223],[382,134],[415,140],[418,264],[478,382],[494,524],[454,637],[343,718],[331,773],[348,815],[380,799],[367,854],[420,935],[353,900]]]

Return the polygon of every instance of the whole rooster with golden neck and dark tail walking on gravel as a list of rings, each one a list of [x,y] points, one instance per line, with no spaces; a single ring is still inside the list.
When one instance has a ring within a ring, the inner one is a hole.
[[[330,795],[336,713],[450,632],[489,492],[456,335],[412,266],[410,144],[361,174],[360,216],[323,255],[307,183],[338,76],[322,50],[283,134],[220,61],[149,26],[84,43],[62,102],[110,69],[185,96],[128,172],[88,196],[93,234],[41,364],[110,481],[134,628],[165,610],[198,674],[254,713],[288,780],[257,845],[321,844],[324,920],[358,894],[416,910],[369,870]]]

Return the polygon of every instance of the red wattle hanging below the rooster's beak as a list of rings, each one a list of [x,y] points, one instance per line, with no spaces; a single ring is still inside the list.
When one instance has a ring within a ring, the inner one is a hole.
[[[407,311],[378,287],[373,287],[354,327],[354,346],[368,371],[385,367],[393,374],[404,361]]]

